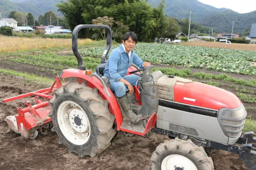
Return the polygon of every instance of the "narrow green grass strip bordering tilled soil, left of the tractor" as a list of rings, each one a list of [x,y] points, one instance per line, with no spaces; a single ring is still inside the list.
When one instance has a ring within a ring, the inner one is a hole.
[[[51,85],[53,82],[53,79],[49,79],[47,77],[38,77],[35,76],[34,74],[28,74],[28,73],[20,73],[18,71],[13,71],[13,70],[6,70],[6,69],[0,69],[0,73],[3,73],[4,75],[12,75],[12,76],[18,76],[25,78],[27,82],[37,82],[37,83],[42,83],[46,85]]]

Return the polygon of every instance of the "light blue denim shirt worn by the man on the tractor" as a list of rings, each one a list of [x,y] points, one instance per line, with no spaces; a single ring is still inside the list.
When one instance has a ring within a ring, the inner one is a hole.
[[[103,71],[104,76],[108,77],[109,79],[119,81],[127,74],[128,68],[132,65],[132,62],[139,68],[143,68],[144,62],[142,59],[140,59],[133,51],[131,51],[131,58],[129,58],[128,53],[121,44],[109,54],[107,66]]]

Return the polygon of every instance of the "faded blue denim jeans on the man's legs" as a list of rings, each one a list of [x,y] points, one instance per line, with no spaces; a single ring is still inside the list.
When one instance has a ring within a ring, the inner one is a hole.
[[[135,74],[131,74],[131,75],[127,75],[124,76],[123,79],[125,79],[126,81],[128,81],[130,84],[132,84],[132,86],[135,86],[136,82],[138,81],[138,79],[140,78],[140,76],[137,76]],[[125,91],[126,91],[126,85],[121,82],[121,81],[115,81],[114,79],[110,79],[110,84],[111,84],[111,90],[115,91],[117,97],[122,97],[125,95]],[[139,85],[139,82],[137,84],[137,86]]]

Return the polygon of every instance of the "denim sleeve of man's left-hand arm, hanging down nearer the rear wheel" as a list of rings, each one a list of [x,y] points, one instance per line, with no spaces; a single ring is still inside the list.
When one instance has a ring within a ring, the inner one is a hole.
[[[117,73],[117,59],[119,57],[118,52],[114,51],[109,54],[109,74],[115,81],[122,79],[122,76]]]

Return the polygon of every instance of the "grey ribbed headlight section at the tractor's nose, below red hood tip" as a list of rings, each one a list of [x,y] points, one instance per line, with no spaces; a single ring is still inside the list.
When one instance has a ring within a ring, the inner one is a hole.
[[[218,121],[226,136],[237,138],[241,136],[246,116],[247,113],[244,105],[241,104],[241,106],[234,109],[221,108],[219,110]]]

